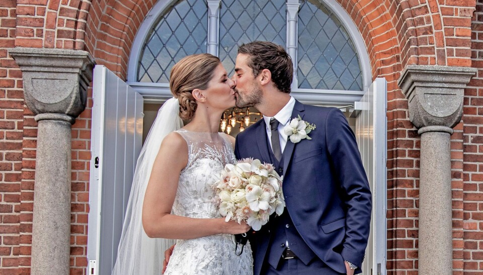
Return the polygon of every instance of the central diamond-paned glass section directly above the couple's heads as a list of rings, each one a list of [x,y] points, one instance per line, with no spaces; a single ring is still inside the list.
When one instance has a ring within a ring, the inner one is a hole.
[[[219,57],[232,75],[238,46],[255,40],[286,45],[285,0],[222,0]]]

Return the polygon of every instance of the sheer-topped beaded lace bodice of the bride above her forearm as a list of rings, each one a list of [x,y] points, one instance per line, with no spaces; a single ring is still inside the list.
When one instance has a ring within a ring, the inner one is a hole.
[[[188,144],[188,164],[181,171],[173,213],[191,218],[219,218],[214,203],[213,184],[227,163],[235,156],[224,133],[177,131]]]

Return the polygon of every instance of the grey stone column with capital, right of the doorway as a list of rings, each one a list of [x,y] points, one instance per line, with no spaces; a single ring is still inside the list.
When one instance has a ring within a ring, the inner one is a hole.
[[[463,113],[463,92],[474,68],[409,65],[398,84],[421,135],[419,273],[451,275],[453,265],[452,127]]]

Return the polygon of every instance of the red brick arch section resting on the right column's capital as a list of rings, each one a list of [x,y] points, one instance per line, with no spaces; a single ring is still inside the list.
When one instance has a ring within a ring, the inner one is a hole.
[[[404,66],[471,66],[474,0],[394,0],[394,3],[398,6],[396,18],[404,20],[398,29]]]

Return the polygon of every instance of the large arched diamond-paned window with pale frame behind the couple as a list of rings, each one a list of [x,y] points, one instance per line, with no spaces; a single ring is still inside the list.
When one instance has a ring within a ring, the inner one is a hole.
[[[160,0],[136,35],[128,82],[168,97],[171,68],[184,56],[216,55],[231,75],[238,46],[255,40],[286,46],[299,99],[351,102],[371,81],[362,37],[335,0]]]

